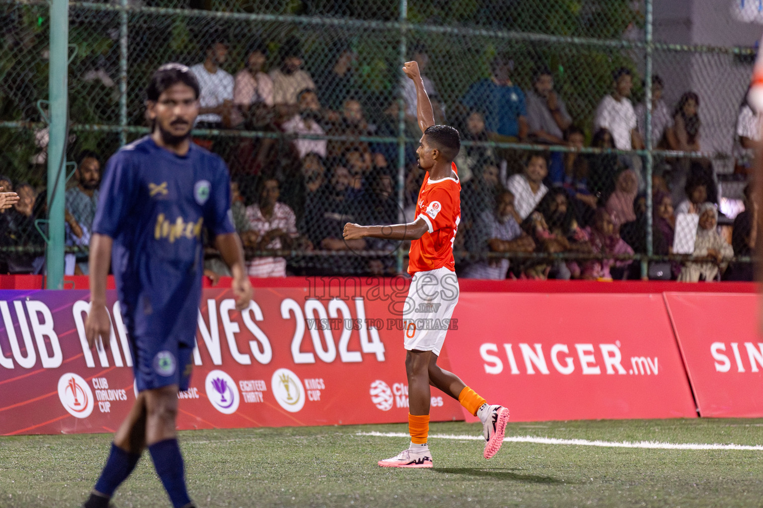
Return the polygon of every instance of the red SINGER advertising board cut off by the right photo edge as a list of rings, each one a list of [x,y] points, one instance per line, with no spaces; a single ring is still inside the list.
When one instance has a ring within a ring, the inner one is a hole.
[[[700,416],[763,417],[758,295],[665,293]]]

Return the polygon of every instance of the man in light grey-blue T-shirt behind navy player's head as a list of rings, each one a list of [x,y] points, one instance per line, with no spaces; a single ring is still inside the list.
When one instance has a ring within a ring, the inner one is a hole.
[[[221,37],[213,37],[204,62],[191,67],[198,80],[199,129],[223,129],[233,126],[233,76],[220,68],[227,60],[228,45]]]

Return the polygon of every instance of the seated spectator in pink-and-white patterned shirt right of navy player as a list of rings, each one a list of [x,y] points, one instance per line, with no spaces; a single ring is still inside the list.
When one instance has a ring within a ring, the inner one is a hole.
[[[278,201],[280,184],[273,178],[265,178],[258,194],[257,203],[246,207],[246,218],[258,237],[256,249],[290,249],[299,236],[297,219],[291,208]],[[246,269],[253,277],[285,277],[286,260],[283,257],[255,257],[246,262]]]

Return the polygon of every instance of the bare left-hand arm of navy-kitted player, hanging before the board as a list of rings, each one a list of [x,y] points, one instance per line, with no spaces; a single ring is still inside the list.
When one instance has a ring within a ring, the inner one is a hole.
[[[101,337],[103,347],[109,347],[111,318],[106,309],[106,278],[111,265],[111,245],[114,240],[95,233],[90,238],[90,313],[85,320],[85,337],[90,349]]]

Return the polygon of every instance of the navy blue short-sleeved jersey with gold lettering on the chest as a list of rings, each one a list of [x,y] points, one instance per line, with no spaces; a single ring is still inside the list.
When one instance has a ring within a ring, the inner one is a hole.
[[[109,159],[92,231],[114,239],[111,266],[134,340],[194,344],[204,228],[211,238],[235,232],[220,157],[194,143],[180,157],[146,136]]]

